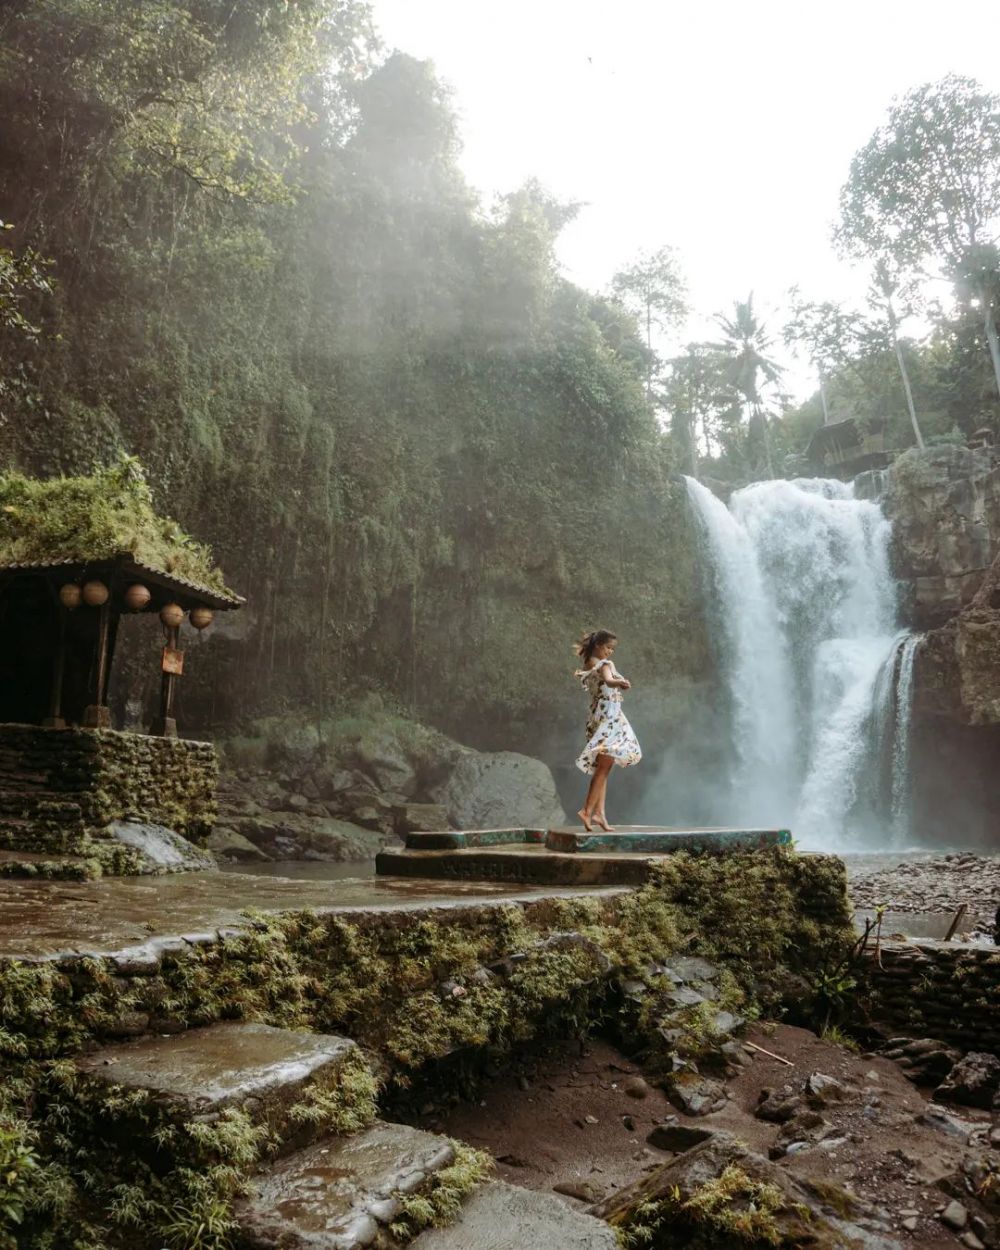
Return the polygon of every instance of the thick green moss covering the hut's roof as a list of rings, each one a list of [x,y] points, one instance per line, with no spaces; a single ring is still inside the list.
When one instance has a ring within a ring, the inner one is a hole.
[[[136,562],[222,595],[231,594],[211,550],[169,516],[158,516],[135,456],[88,478],[0,474],[0,564],[109,560]]]

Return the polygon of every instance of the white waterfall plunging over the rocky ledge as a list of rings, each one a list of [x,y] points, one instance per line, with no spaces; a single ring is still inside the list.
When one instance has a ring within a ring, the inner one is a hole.
[[[839,481],[758,482],[726,508],[686,480],[731,702],[726,819],[899,842],[919,640],[896,626],[889,521]]]

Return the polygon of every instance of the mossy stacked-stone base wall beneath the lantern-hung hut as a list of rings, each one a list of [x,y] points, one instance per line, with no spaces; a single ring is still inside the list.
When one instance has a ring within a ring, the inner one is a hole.
[[[85,855],[115,820],[204,838],[218,772],[210,742],[0,725],[0,846]]]

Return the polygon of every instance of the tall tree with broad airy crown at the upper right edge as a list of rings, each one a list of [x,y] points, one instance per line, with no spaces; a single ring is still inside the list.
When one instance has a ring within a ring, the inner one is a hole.
[[[956,74],[908,92],[851,161],[840,210],[845,251],[906,272],[936,260],[975,300],[1000,392],[1000,96]]]

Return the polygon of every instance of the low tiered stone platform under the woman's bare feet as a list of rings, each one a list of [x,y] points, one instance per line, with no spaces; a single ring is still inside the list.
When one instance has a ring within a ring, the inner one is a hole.
[[[381,851],[380,876],[539,885],[641,885],[674,851],[699,854],[788,846],[786,829],[676,829],[621,825],[585,829],[476,829],[409,834],[401,850]]]

